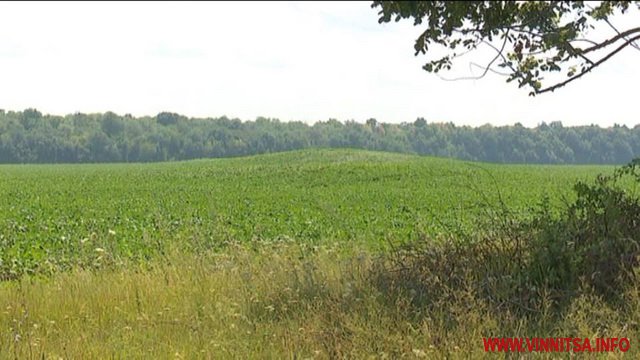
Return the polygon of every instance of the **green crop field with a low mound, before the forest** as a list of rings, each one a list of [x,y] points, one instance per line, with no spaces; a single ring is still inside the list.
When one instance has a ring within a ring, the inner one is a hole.
[[[605,166],[514,166],[366,151],[161,164],[0,166],[0,275],[140,260],[167,246],[358,243],[471,228],[502,201],[560,204]]]

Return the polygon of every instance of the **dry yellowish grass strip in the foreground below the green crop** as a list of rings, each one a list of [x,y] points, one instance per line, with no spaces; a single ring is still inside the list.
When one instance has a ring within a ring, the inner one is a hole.
[[[495,311],[461,287],[417,316],[410,294],[372,281],[379,261],[353,249],[238,246],[5,282],[0,357],[479,358],[491,355],[485,336],[625,336],[631,351],[608,355],[638,356],[637,287],[623,312],[585,294],[560,320]]]

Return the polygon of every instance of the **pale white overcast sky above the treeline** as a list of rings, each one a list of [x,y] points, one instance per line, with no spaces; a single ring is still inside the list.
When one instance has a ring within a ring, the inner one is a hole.
[[[379,24],[370,4],[0,2],[0,109],[306,123],[640,124],[640,51],[627,48],[582,79],[530,97],[500,75],[444,81],[427,73],[427,58],[413,50],[424,28]],[[639,13],[622,20],[640,25]],[[491,55],[480,51],[442,75],[477,75],[468,64]]]

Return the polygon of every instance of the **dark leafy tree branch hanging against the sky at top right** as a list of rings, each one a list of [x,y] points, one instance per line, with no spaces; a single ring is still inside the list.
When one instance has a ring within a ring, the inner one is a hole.
[[[451,70],[456,58],[486,45],[495,54],[476,78],[498,66],[507,82],[529,87],[532,96],[579,79],[627,47],[640,50],[640,16],[625,29],[613,22],[637,15],[640,1],[374,1],[372,7],[380,8],[380,23],[411,18],[426,25],[415,54],[431,54],[433,45],[446,50],[426,71]],[[596,32],[601,28],[608,33]]]

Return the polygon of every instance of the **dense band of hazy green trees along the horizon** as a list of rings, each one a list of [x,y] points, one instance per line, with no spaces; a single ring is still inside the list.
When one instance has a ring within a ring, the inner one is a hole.
[[[623,164],[640,155],[640,125],[481,127],[334,119],[313,125],[104,114],[43,115],[0,110],[0,163],[148,162],[231,157],[312,147],[349,147],[499,163]]]

